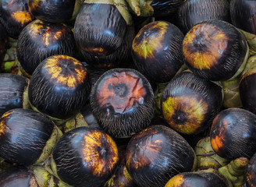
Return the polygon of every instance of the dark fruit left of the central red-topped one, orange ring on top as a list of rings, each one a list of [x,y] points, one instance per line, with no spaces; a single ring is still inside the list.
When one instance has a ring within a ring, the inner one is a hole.
[[[28,97],[30,104],[45,115],[68,119],[84,106],[90,91],[90,75],[81,62],[67,55],[53,55],[32,74]]]

